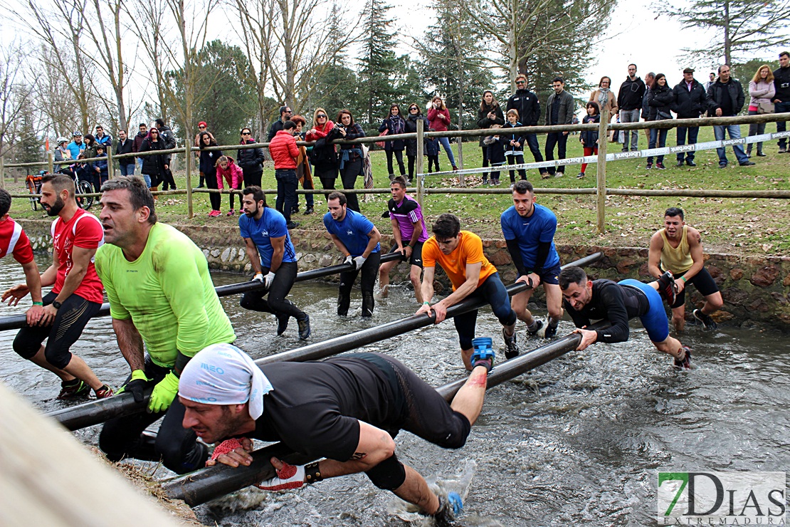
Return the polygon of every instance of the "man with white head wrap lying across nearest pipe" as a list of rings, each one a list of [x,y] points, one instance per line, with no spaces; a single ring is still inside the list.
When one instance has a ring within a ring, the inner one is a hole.
[[[461,510],[455,493],[438,496],[416,470],[398,461],[393,437],[402,430],[444,448],[461,448],[483,408],[491,348],[472,355],[472,373],[448,404],[433,387],[386,355],[352,353],[323,362],[272,363],[258,367],[231,344],[198,352],[182,371],[179,400],[183,427],[205,442],[248,436],[281,441],[314,459],[292,466],[272,457],[277,476],[259,487],[280,491],[325,478],[365,472],[434,517],[455,525]],[[271,382],[270,382],[271,380]],[[251,441],[229,439],[216,446],[216,461],[250,465]]]

